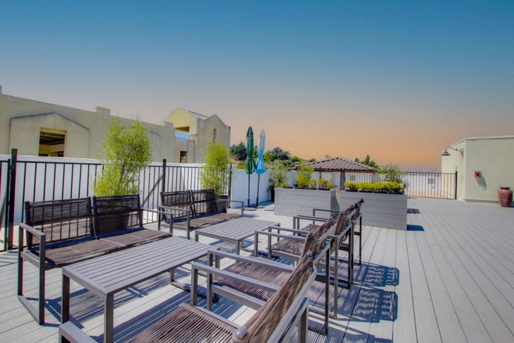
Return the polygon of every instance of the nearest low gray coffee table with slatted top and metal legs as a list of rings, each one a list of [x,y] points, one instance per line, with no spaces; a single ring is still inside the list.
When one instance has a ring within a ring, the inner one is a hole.
[[[70,341],[88,336],[69,321],[69,280],[104,301],[103,341],[113,341],[114,294],[207,255],[212,246],[180,237],[164,238],[62,268],[62,324],[59,335]],[[173,273],[172,273],[173,275]],[[172,280],[173,281],[173,280]],[[172,284],[184,288],[181,284]],[[85,340],[84,340],[85,341]]]

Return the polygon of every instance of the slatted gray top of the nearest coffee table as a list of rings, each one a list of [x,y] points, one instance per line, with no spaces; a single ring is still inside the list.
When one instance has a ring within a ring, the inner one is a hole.
[[[62,268],[63,275],[105,297],[207,255],[212,246],[180,237],[124,249]]]

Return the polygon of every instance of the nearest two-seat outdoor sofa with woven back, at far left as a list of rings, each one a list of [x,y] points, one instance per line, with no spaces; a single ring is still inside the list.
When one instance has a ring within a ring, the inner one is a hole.
[[[142,212],[138,194],[93,197],[93,205],[90,197],[25,203],[25,223],[19,226],[17,295],[38,323],[45,318],[46,270],[171,236],[172,223],[170,232],[160,231],[160,225],[158,230],[144,228]],[[23,293],[25,260],[39,269],[37,308]]]

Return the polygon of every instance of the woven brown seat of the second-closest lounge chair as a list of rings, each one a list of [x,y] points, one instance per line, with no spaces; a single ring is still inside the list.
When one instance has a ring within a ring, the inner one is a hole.
[[[291,273],[282,272],[281,270],[247,262],[237,262],[225,270],[227,272],[246,276],[255,280],[275,284],[277,286],[284,285],[289,275],[291,275]],[[264,291],[261,288],[252,287],[247,284],[219,276],[214,277],[213,284],[218,286],[229,286],[236,291],[243,292],[261,300],[268,300],[273,295],[272,292]]]

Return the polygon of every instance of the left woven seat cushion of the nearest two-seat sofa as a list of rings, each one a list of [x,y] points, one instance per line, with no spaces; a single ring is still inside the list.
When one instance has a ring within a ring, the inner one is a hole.
[[[47,248],[46,261],[49,265],[62,266],[104,255],[119,248],[120,246],[114,243],[96,239],[89,240],[71,245]]]

